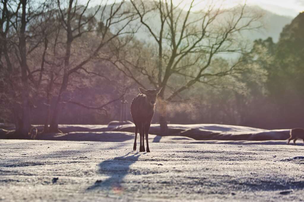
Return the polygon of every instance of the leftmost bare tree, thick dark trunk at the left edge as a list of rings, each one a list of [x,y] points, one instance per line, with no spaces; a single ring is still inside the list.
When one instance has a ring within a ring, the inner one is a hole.
[[[41,22],[47,21],[50,2],[1,1],[1,64],[5,72],[6,87],[12,99],[18,137],[26,137],[31,128],[32,92],[38,85],[29,65],[28,55],[35,50],[47,34]],[[20,11],[21,10],[21,11]],[[43,30],[43,31],[42,31]],[[37,71],[36,71],[37,72]]]

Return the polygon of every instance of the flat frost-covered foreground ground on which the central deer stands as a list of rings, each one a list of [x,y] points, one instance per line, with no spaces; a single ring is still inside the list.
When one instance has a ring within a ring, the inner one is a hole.
[[[57,138],[87,135],[103,141],[0,140],[0,201],[304,199],[303,141],[149,135],[151,153],[139,153],[127,132]]]

